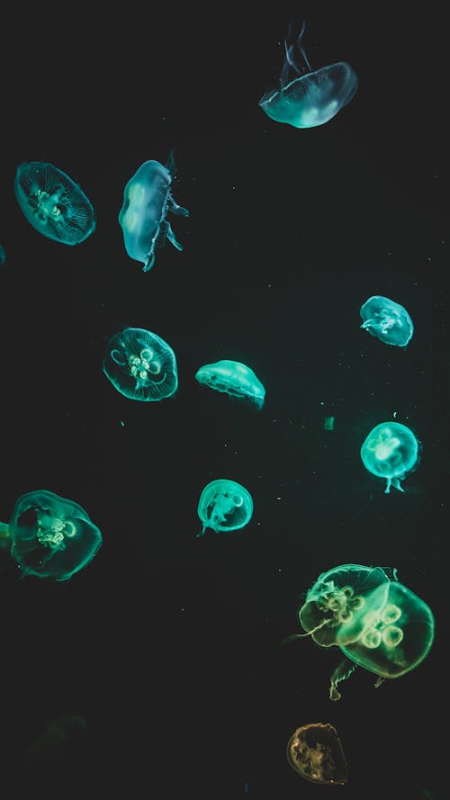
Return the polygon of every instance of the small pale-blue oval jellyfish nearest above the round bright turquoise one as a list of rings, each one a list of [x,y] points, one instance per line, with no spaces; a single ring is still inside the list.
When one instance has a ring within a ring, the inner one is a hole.
[[[380,339],[385,345],[408,345],[414,332],[414,325],[407,310],[398,302],[374,294],[361,306],[361,325],[371,336]]]

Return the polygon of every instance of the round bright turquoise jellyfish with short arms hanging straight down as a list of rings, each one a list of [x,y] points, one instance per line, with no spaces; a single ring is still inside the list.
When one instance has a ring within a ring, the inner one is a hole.
[[[400,422],[380,422],[365,438],[361,458],[366,470],[385,479],[385,494],[392,486],[404,491],[401,481],[419,461],[419,440]]]

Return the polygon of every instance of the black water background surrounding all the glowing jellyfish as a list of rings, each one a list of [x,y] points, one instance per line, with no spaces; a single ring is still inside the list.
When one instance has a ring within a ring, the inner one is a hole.
[[[295,130],[258,100],[275,85],[289,19],[312,67],[347,60],[354,99]],[[0,243],[2,491],[85,508],[103,533],[67,583],[24,578],[2,553],[0,780],[8,796],[53,786],[86,796],[442,796],[448,676],[446,23],[333,4],[241,16],[127,4],[10,13],[3,29]],[[173,151],[169,243],[144,274],[127,256],[123,188]],[[44,238],[14,195],[17,166],[49,161],[94,205],[76,247]],[[401,302],[405,348],[362,331],[372,294]],[[108,339],[155,331],[179,387],[127,400],[102,371]],[[266,386],[259,412],[200,386],[230,358]],[[395,418],[422,445],[404,493],[383,492],[359,450]],[[335,417],[325,431],[324,418]],[[197,503],[220,477],[254,499],[249,525],[199,539]],[[433,609],[417,670],[374,689],[356,670],[328,697],[338,651],[308,639],[298,609],[320,572],[394,566]],[[58,715],[86,736],[49,765],[26,758]],[[285,747],[299,725],[336,726],[346,787],[304,781]],[[3,776],[3,778],[2,778]],[[101,795],[102,796],[102,795]],[[327,795],[328,796],[328,795]]]

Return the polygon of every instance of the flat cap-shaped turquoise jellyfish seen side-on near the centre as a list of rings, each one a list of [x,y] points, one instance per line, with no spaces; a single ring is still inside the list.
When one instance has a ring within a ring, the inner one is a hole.
[[[203,364],[195,373],[195,380],[210,389],[249,400],[258,410],[264,405],[266,389],[253,370],[238,361],[223,359],[215,364]]]

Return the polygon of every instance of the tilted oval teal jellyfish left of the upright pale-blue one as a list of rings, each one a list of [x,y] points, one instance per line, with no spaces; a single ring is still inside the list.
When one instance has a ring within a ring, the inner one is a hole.
[[[57,166],[25,161],[17,167],[14,190],[26,219],[43,236],[77,245],[94,232],[90,200]]]

